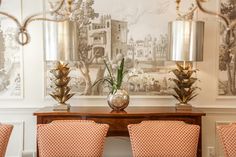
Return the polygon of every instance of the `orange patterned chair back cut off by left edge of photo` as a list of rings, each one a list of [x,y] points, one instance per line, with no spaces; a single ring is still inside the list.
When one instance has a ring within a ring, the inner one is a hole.
[[[0,157],[4,157],[13,125],[0,124]]]

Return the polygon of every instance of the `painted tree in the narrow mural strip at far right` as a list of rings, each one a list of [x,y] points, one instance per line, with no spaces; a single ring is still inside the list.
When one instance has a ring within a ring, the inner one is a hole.
[[[236,19],[236,1],[229,0],[221,4],[221,13],[230,21]],[[236,25],[232,29],[221,27],[222,43],[220,45],[219,70],[227,71],[227,85],[225,87],[228,95],[236,95]]]

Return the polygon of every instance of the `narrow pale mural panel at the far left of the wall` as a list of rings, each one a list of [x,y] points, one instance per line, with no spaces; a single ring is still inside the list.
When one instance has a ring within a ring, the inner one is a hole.
[[[17,7],[12,9],[12,7]],[[1,11],[22,18],[22,0],[0,4]],[[0,16],[0,99],[23,98],[23,48],[17,43],[17,26],[11,19]]]

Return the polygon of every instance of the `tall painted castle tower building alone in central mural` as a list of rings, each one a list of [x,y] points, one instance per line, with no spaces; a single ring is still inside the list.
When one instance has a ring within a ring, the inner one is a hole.
[[[92,45],[92,54],[100,52],[113,60],[118,54],[127,52],[128,24],[113,20],[110,15],[100,16],[98,22],[88,26],[88,44]]]

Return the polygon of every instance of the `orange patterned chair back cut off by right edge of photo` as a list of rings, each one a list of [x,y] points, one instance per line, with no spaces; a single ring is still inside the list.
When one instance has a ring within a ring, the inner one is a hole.
[[[236,123],[217,127],[225,157],[236,157]]]

